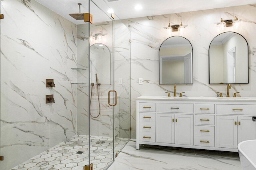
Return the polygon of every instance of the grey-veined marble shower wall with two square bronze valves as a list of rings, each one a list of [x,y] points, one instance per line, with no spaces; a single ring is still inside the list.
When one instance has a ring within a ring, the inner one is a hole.
[[[0,169],[76,135],[76,25],[34,0],[1,1]],[[55,88],[46,88],[53,78]],[[54,104],[45,95],[54,94]]]

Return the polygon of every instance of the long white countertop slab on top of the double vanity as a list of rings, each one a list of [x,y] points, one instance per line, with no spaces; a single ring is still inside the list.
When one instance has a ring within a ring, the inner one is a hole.
[[[193,97],[193,96],[183,96],[183,97],[167,97],[167,96],[140,96],[136,98],[136,100],[170,100],[170,101],[177,101],[177,100],[183,100],[183,101],[225,101],[225,102],[256,102],[256,97],[230,97],[230,98],[220,98],[220,97]]]

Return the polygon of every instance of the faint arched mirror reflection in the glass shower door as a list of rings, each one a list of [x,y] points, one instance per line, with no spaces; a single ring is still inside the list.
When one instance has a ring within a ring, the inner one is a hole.
[[[90,82],[96,82],[95,74],[100,84],[111,84],[111,53],[102,43],[90,46]]]

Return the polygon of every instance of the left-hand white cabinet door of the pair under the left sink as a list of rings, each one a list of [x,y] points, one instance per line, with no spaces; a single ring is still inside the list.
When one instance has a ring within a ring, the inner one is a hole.
[[[174,143],[174,114],[157,113],[157,142]]]

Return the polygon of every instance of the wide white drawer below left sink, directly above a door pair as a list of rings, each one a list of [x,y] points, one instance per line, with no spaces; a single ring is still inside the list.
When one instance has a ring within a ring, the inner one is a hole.
[[[158,112],[170,113],[194,113],[194,104],[173,104],[173,103],[158,103]]]

